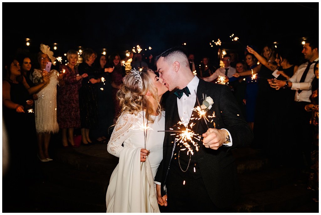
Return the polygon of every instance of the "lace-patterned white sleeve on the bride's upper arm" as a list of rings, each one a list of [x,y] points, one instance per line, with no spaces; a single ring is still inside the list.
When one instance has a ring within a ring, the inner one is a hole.
[[[119,116],[110,140],[107,144],[107,151],[118,157],[123,150],[123,142],[132,134],[137,118],[134,114],[123,113]]]

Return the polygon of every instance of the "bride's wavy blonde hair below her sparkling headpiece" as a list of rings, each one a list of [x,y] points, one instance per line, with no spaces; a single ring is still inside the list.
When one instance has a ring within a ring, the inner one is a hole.
[[[157,96],[158,90],[148,71],[154,73],[151,69],[147,68],[143,69],[139,74],[142,79],[142,88],[140,88],[139,80],[136,80],[137,77],[135,78],[132,72],[123,78],[123,83],[120,85],[120,89],[116,94],[116,99],[119,100],[119,106],[121,107],[118,117],[123,112],[137,115],[138,112],[146,109],[145,117],[149,119],[149,122],[153,123],[154,121],[148,116],[153,113],[157,115],[160,113],[161,106]],[[156,101],[156,109],[154,109],[153,104],[146,98],[148,90]]]

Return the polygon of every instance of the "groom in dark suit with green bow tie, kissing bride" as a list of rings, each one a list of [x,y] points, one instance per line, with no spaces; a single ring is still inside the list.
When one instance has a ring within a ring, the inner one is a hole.
[[[253,133],[230,89],[194,76],[183,49],[171,48],[157,59],[157,70],[169,91],[182,90],[166,100],[165,130],[178,121],[194,122],[193,131],[204,137],[199,151],[187,155],[175,135],[165,133],[163,160],[155,176],[160,184],[156,185],[157,201],[167,212],[222,212],[237,197],[237,171],[230,150],[249,144]],[[197,115],[192,113],[198,106],[196,97],[202,104],[203,94],[213,99],[206,114],[215,113],[213,122],[207,122],[209,129],[203,119],[190,120]]]

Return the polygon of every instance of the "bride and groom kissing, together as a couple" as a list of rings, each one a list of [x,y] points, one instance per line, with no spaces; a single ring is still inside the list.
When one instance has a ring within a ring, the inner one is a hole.
[[[121,114],[107,149],[119,163],[106,194],[107,212],[224,212],[238,196],[230,150],[249,144],[253,133],[230,89],[194,76],[183,49],[164,51],[156,65],[159,75],[131,70],[117,92]],[[160,99],[175,89],[165,114]],[[190,124],[203,95],[212,99],[206,114],[215,115],[214,123],[195,121],[191,131],[202,139],[192,155],[176,135],[159,131],[178,121]]]

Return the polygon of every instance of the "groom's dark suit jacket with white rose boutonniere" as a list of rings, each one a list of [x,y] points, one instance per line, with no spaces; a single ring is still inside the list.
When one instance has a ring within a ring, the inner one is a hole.
[[[233,97],[228,86],[205,82],[200,79],[197,87],[197,98],[202,104],[203,95],[210,96],[213,99],[213,105],[207,112],[207,116],[211,116],[215,112],[215,128],[227,129],[232,137],[233,145],[231,147],[221,146],[218,150],[205,148],[202,142],[199,142],[200,150],[195,151],[201,176],[212,202],[218,208],[225,208],[230,205],[237,197],[237,171],[234,164],[234,157],[230,150],[236,147],[249,144],[253,139],[253,133],[244,120],[238,104]],[[195,101],[195,107],[198,106]],[[177,118],[177,97],[171,94],[166,100],[165,130],[177,122],[173,119]],[[193,112],[196,115],[196,112]],[[174,117],[175,116],[175,117]],[[211,121],[211,120],[210,120]],[[208,126],[213,128],[214,125],[208,122]],[[195,121],[193,130],[195,133],[202,135],[207,131],[207,126],[203,119]],[[166,186],[165,178],[169,168],[169,162],[172,157],[173,141],[175,135],[166,132],[163,144],[163,160],[157,170],[155,181],[161,182],[161,194],[164,195]],[[203,138],[202,138],[203,139]],[[165,185],[165,186],[164,186]],[[184,201],[184,200],[182,200]]]

